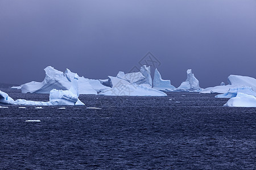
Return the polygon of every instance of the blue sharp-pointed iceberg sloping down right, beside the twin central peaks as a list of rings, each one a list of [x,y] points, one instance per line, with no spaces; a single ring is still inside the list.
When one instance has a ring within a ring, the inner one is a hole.
[[[171,85],[170,80],[163,80],[158,69],[155,69],[154,79],[153,79],[153,88],[161,91],[173,91],[176,88]]]

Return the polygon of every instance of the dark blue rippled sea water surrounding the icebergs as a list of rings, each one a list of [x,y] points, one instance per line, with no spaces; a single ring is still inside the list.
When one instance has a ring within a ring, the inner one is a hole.
[[[185,92],[80,100],[85,106],[0,108],[0,169],[255,169],[255,108]]]

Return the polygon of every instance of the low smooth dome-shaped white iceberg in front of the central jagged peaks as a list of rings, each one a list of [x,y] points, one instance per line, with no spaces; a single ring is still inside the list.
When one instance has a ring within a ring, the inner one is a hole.
[[[167,96],[164,92],[143,84],[122,84],[111,90],[100,92],[98,95],[105,96]]]

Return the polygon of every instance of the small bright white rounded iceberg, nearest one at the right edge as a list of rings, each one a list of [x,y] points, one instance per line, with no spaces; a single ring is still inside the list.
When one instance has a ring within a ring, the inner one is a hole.
[[[229,99],[228,102],[224,104],[224,106],[225,107],[256,107],[256,97],[238,92],[237,96]]]

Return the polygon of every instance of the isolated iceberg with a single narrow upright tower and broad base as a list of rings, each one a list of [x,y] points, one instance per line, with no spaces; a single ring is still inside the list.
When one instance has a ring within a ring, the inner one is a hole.
[[[187,79],[182,82],[175,91],[195,91],[199,92],[202,88],[199,86],[199,80],[196,79],[195,75],[192,74],[192,70],[187,70]]]

